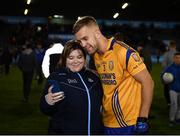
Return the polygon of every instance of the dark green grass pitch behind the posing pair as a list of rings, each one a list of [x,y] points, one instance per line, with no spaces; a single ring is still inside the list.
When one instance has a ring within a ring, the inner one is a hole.
[[[151,74],[155,88],[149,119],[149,134],[180,134],[180,125],[169,127],[169,109],[164,99],[160,72],[160,64],[153,64]],[[9,75],[0,75],[0,134],[47,134],[48,117],[39,110],[43,86],[43,84],[38,85],[34,79],[29,103],[23,103],[20,70],[16,66],[11,66]]]

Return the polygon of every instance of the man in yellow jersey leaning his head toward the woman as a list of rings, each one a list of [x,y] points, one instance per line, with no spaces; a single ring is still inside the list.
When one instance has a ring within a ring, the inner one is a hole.
[[[146,133],[154,83],[138,53],[113,37],[107,39],[91,16],[77,20],[73,32],[94,55],[104,90],[105,134]]]

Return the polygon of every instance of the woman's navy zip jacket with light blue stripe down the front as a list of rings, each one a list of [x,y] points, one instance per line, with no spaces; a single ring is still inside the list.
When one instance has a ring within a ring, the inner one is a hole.
[[[65,98],[51,106],[45,101],[46,83],[40,100],[41,111],[50,116],[49,134],[103,134],[101,105],[103,90],[99,77],[88,69],[71,72],[60,69],[47,80],[57,80]]]

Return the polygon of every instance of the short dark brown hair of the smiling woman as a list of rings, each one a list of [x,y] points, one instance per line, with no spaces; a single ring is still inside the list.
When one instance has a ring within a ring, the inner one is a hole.
[[[66,60],[67,60],[69,54],[72,51],[77,50],[77,49],[82,51],[83,56],[86,59],[86,52],[83,49],[83,47],[80,45],[80,42],[78,42],[77,40],[70,40],[70,41],[67,41],[65,43],[65,46],[64,46],[64,49],[62,52],[62,56],[61,56],[61,59],[59,61],[59,66],[60,67],[66,67]]]

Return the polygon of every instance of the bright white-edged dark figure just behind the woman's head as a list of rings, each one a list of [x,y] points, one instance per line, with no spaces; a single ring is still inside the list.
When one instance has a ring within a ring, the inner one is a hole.
[[[53,43],[50,45],[50,48],[46,50],[42,62],[42,71],[45,78],[56,70],[63,48],[64,46],[61,43]]]

